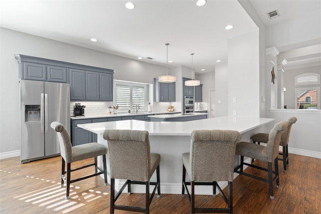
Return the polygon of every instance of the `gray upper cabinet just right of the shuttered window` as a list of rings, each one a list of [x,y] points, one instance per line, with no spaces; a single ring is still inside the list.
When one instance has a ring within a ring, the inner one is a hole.
[[[158,78],[154,78],[155,83],[155,101],[156,102],[175,102],[176,84],[160,83]]]

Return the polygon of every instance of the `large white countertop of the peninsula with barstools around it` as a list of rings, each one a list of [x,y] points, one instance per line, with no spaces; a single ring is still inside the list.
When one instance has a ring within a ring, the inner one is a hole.
[[[272,122],[273,118],[251,118],[251,117],[214,117],[203,120],[187,122],[149,122],[140,120],[121,120],[101,123],[78,124],[77,126],[96,134],[102,134],[105,129],[130,129],[146,130],[149,135],[191,135],[193,130],[200,129],[222,129],[236,130],[241,134]]]

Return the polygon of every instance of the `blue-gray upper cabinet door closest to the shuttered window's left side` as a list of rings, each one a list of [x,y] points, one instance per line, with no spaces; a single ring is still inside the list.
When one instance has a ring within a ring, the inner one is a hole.
[[[113,101],[113,75],[99,74],[100,100]]]

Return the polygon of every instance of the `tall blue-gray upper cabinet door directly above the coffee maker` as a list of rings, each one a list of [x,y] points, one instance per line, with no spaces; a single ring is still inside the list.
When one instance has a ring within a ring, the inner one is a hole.
[[[85,100],[85,71],[70,69],[70,100]]]

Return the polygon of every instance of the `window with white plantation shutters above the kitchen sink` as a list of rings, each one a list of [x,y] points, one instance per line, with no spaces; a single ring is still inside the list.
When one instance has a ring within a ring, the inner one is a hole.
[[[145,111],[147,105],[146,88],[146,84],[143,83],[114,80],[115,105],[118,105],[118,111],[135,109],[136,105],[139,105],[139,111]]]

